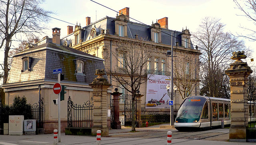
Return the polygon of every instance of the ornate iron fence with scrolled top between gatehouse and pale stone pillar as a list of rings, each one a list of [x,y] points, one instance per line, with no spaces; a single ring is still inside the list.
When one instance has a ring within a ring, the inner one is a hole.
[[[82,105],[68,97],[68,127],[92,127],[93,97]]]

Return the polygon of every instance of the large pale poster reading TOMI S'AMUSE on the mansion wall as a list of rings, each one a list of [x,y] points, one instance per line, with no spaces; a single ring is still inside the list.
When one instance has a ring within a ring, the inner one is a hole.
[[[170,108],[166,90],[168,84],[170,85],[168,76],[148,74],[146,108]]]

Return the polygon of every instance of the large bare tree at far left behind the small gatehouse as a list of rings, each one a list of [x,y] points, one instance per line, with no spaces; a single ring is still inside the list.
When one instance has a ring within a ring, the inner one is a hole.
[[[0,49],[4,48],[3,83],[6,83],[8,72],[8,57],[13,41],[21,37],[34,35],[46,29],[43,25],[52,14],[40,7],[44,0],[1,0],[0,1]]]

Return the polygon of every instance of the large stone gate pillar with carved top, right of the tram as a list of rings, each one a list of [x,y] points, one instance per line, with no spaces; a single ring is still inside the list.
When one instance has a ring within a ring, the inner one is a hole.
[[[247,88],[248,76],[252,73],[246,62],[244,51],[233,52],[231,59],[236,60],[225,71],[230,77],[230,120],[229,141],[246,142],[246,127],[248,126]]]

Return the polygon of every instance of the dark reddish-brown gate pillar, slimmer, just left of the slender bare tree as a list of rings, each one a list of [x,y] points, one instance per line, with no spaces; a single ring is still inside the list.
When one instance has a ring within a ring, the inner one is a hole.
[[[121,129],[121,122],[119,120],[119,96],[123,93],[118,92],[118,89],[115,88],[116,92],[111,93],[113,95],[113,105],[114,105],[114,124],[112,129]]]

